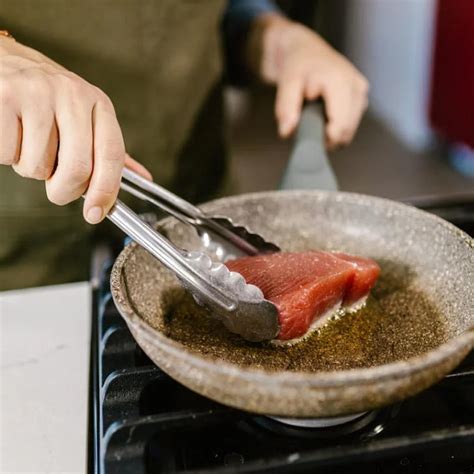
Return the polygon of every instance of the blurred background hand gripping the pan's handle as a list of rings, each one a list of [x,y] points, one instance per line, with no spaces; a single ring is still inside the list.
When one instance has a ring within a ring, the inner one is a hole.
[[[348,144],[367,108],[365,77],[314,31],[277,14],[255,20],[246,57],[251,68],[275,84],[280,136],[293,133],[305,99],[324,99],[328,148]]]

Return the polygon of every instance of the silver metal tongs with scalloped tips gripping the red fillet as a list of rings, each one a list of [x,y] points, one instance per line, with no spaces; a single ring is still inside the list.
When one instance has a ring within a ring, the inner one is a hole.
[[[279,250],[277,245],[235,225],[226,217],[206,215],[191,203],[126,168],[121,188],[192,225],[204,248],[212,250],[220,261],[212,261],[204,251],[179,249],[120,199],[107,215],[117,227],[174,272],[196,301],[208,307],[230,331],[255,342],[276,337],[279,323],[275,305],[264,298],[259,288],[247,284],[242,275],[231,272],[221,261],[239,255],[276,252]]]

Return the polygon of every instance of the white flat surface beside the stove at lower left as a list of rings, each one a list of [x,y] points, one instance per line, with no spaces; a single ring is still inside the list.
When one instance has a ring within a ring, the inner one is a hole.
[[[0,472],[86,472],[90,288],[0,293]]]

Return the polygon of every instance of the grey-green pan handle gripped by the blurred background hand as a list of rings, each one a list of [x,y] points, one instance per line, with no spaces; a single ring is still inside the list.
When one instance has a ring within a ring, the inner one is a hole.
[[[324,121],[321,101],[304,106],[280,189],[338,189],[326,154]]]

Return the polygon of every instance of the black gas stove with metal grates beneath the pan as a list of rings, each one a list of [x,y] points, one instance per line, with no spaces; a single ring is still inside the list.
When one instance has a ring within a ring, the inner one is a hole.
[[[474,235],[472,196],[413,203]],[[252,415],[197,395],[148,359],[112,301],[112,259],[102,260],[91,473],[474,473],[474,353],[436,386],[373,412],[303,422]]]

